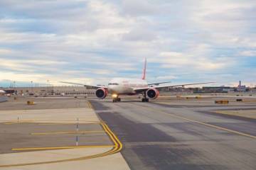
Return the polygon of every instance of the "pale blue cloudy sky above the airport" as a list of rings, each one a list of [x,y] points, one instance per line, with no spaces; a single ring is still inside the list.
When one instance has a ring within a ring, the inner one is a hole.
[[[255,0],[0,0],[0,86],[256,85]]]

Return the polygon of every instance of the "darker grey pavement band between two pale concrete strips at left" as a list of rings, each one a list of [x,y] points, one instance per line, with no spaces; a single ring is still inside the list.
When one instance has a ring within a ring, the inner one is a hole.
[[[42,111],[42,110],[41,110]],[[100,124],[0,123],[0,154],[24,152],[13,148],[112,145]]]

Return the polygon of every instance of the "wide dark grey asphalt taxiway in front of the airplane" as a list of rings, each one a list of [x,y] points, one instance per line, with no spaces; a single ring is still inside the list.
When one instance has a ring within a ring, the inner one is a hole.
[[[131,169],[256,167],[256,120],[213,113],[256,106],[90,102],[123,143]]]

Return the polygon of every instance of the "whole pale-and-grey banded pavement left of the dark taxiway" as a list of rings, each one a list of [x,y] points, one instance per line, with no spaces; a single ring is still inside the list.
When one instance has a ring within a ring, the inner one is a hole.
[[[122,154],[111,154],[114,144],[87,101],[36,98],[36,105],[27,106],[26,98],[19,100],[0,104],[1,170],[129,169]],[[66,146],[73,149],[47,149]],[[11,150],[15,148],[32,150]]]

